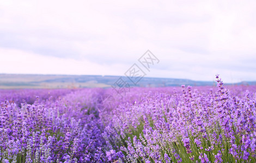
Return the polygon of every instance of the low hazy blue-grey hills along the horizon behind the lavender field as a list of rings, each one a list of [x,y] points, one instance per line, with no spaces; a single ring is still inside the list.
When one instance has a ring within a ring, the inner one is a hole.
[[[111,87],[118,81],[118,76],[75,76],[75,75],[42,75],[42,74],[0,74],[0,89],[55,89],[75,87]],[[147,78],[144,77],[137,84],[129,78],[121,77],[130,86],[162,87],[216,85],[215,81],[203,82],[189,79]],[[119,80],[120,81],[120,80]],[[237,85],[256,85],[256,82],[241,82]]]

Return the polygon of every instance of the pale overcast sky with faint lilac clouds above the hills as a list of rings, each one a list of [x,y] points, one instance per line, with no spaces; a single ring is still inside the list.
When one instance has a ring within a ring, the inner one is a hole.
[[[0,73],[256,80],[256,1],[0,1]],[[144,70],[144,69],[143,69]]]

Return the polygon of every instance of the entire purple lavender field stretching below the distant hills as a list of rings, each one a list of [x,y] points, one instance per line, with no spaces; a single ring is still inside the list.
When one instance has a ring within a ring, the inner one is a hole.
[[[216,81],[0,90],[0,162],[256,162],[256,86]]]

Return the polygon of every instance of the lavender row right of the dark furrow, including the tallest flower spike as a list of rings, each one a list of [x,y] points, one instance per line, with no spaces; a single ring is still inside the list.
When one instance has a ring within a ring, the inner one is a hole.
[[[237,92],[240,86],[225,89],[218,76],[216,82],[213,89],[181,86],[148,94],[129,107],[123,126],[113,120],[126,133],[126,161],[255,162],[255,86]]]

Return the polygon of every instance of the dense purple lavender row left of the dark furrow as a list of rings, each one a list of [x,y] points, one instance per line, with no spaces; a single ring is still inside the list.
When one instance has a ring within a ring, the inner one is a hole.
[[[105,139],[108,129],[95,109],[98,94],[98,89],[83,89],[47,100],[36,97],[33,104],[1,102],[0,162],[106,162],[119,158],[123,154],[115,152],[111,140]]]

